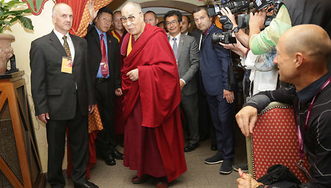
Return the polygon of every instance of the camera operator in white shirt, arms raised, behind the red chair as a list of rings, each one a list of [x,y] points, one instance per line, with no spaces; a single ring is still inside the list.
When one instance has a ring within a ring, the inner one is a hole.
[[[221,13],[226,15],[231,20],[234,27],[237,27],[234,15],[229,8],[221,8]],[[232,30],[234,30],[234,27]],[[219,43],[226,49],[234,51],[241,56],[241,67],[244,67],[245,74],[243,76],[243,95],[245,102],[256,93],[264,90],[274,90],[278,81],[278,69],[273,64],[273,58],[276,55],[276,50],[273,48],[268,53],[262,55],[254,55],[249,48],[243,46],[242,43],[248,44],[249,36],[239,29],[238,32],[233,32],[236,36],[237,43]],[[248,171],[247,164],[235,164],[234,170],[238,171],[241,168],[244,172]]]

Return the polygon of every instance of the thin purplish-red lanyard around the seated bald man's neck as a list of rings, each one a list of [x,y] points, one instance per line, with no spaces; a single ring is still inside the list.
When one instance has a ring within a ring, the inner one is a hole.
[[[298,103],[298,107],[297,107],[297,137],[299,139],[299,159],[300,159],[300,161],[302,161],[302,159],[304,159],[304,139],[303,139],[302,136],[304,135],[304,133],[306,133],[306,129],[308,127],[308,120],[309,120],[309,117],[311,115],[311,110],[313,109],[313,102],[315,102],[316,96],[318,95],[318,93],[320,93],[320,90],[323,90],[327,85],[329,85],[330,81],[331,81],[331,76],[330,76],[329,79],[327,79],[327,81],[325,81],[323,86],[320,87],[320,89],[317,91],[317,93],[313,97],[313,100],[311,100],[311,105],[309,106],[309,109],[308,109],[308,112],[307,112],[307,115],[306,115],[306,121],[304,121],[303,133],[301,133],[300,125],[299,125],[299,105],[300,105],[300,101]]]

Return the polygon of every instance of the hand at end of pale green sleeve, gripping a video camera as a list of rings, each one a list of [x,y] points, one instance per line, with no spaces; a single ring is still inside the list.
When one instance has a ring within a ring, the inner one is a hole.
[[[261,10],[256,13],[250,13],[250,37],[254,34],[259,34],[264,28],[264,21],[266,20],[266,11]]]

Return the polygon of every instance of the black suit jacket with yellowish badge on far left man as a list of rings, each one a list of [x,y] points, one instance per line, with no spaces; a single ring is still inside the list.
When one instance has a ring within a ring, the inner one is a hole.
[[[70,37],[75,50],[72,74],[61,72],[62,57],[67,54],[53,31],[31,43],[31,90],[36,115],[48,112],[53,120],[73,119],[76,96],[83,115],[88,114],[88,105],[95,104],[86,40],[72,34]]]

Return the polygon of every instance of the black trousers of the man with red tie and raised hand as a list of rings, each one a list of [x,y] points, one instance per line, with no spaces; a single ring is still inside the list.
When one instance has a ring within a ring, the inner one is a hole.
[[[103,130],[97,135],[97,147],[102,151],[110,152],[116,146],[114,128],[114,95],[115,90],[109,90],[108,81],[95,81],[95,99],[100,112]]]

